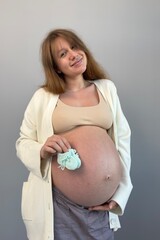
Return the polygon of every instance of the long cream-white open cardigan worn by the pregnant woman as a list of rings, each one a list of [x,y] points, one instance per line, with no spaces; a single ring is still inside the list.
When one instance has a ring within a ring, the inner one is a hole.
[[[119,204],[109,212],[110,228],[120,228],[118,215],[124,209],[132,190],[130,179],[130,135],[128,122],[122,112],[116,87],[110,80],[96,80],[94,84],[108,100],[113,114],[113,127],[109,134],[115,142],[123,166],[122,181],[112,197]],[[52,201],[51,158],[40,160],[40,149],[46,139],[53,135],[52,113],[58,95],[38,89],[30,100],[16,141],[17,156],[30,171],[22,190],[22,218],[30,240],[54,239],[54,210]]]

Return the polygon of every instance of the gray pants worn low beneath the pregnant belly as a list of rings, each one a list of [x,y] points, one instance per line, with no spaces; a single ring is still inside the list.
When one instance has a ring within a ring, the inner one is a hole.
[[[53,189],[55,240],[114,240],[107,211],[89,211]]]

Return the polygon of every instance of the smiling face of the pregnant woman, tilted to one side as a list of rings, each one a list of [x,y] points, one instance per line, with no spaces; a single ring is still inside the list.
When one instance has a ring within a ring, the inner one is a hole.
[[[53,56],[58,67],[57,72],[62,72],[65,79],[75,78],[86,70],[86,54],[76,46],[71,46],[62,37],[58,37],[54,41]]]

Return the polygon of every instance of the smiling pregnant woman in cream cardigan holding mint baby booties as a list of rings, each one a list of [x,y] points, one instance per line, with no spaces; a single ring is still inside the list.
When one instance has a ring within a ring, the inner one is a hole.
[[[24,114],[17,155],[30,171],[22,217],[31,240],[113,240],[132,190],[130,128],[116,87],[73,32],[42,43],[45,83]]]

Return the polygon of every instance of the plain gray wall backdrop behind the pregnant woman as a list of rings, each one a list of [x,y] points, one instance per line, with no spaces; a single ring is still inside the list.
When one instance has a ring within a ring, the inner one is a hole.
[[[132,129],[134,190],[118,240],[151,240],[160,227],[160,1],[0,0],[0,239],[26,240],[15,141],[43,82],[39,47],[52,28],[76,30],[115,82]]]

